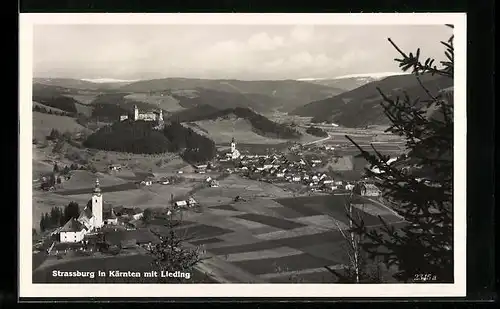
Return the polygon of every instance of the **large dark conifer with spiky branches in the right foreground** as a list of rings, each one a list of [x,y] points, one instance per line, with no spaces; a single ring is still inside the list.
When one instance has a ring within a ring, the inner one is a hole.
[[[366,174],[407,223],[396,230],[383,222],[381,230],[373,230],[357,221],[355,230],[367,239],[363,248],[370,255],[398,269],[398,280],[409,282],[423,274],[435,283],[453,282],[453,96],[447,91],[430,93],[419,78],[438,74],[453,79],[453,36],[441,42],[447,60],[439,68],[434,59],[421,62],[420,49],[408,55],[389,42],[401,55],[396,61],[402,70],[412,71],[428,98],[411,100],[405,95],[401,100],[379,90],[384,113],[392,123],[387,131],[406,140],[407,157],[389,165],[388,156],[374,147],[369,153],[346,137],[372,168],[380,170],[367,169]]]

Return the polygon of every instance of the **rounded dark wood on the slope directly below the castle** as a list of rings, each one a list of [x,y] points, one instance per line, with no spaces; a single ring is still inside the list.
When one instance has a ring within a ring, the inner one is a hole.
[[[115,122],[91,134],[83,146],[94,149],[130,153],[164,153],[170,143],[162,132],[153,130],[153,124],[146,121]]]

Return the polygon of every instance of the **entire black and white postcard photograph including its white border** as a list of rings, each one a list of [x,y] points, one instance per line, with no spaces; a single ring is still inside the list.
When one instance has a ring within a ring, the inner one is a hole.
[[[21,14],[20,296],[463,295],[465,20]]]

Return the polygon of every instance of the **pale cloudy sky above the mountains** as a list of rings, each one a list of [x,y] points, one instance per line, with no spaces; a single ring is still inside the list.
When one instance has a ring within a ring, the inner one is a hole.
[[[444,59],[439,25],[36,25],[35,77],[280,80],[400,72],[405,52]]]

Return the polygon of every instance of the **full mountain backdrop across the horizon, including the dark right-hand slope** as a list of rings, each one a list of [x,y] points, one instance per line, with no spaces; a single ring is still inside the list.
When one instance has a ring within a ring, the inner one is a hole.
[[[313,122],[364,127],[388,124],[377,88],[392,97],[404,92],[412,99],[427,97],[415,76],[391,72],[278,81],[190,78],[97,81],[35,78],[33,98],[70,113],[74,113],[76,106],[77,113],[85,108],[92,116],[108,119],[119,118],[133,105],[140,109],[161,107],[167,118],[179,121],[204,119],[217,111],[243,108],[258,114],[280,111],[312,117]],[[452,79],[440,76],[424,75],[421,81],[431,93],[453,86]]]

